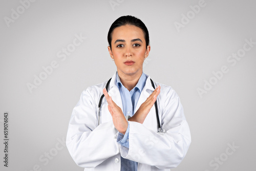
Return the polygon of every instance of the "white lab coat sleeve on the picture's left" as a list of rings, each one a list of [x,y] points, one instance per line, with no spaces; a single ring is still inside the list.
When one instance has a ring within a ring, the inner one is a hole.
[[[81,167],[94,168],[120,153],[118,131],[113,122],[98,125],[99,96],[99,92],[93,87],[83,91],[69,122],[67,148],[73,160]]]

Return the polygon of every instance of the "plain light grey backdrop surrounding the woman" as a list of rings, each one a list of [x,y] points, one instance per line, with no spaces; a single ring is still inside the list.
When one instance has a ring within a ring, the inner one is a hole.
[[[256,46],[236,66],[227,62],[245,39],[256,41],[255,1],[205,0],[205,7],[180,32],[174,23],[181,23],[181,14],[199,1],[113,1],[118,3],[114,8],[109,1],[38,0],[8,27],[4,17],[11,17],[11,9],[17,11],[21,4],[1,0],[0,169],[25,171],[38,165],[41,170],[83,170],[66,147],[60,149],[58,139],[66,139],[81,92],[116,71],[106,36],[116,18],[129,14],[139,17],[150,32],[144,72],[176,90],[190,126],[189,151],[172,170],[215,170],[209,163],[225,157],[228,143],[238,148],[216,170],[255,170]],[[57,52],[72,44],[75,34],[87,38],[61,61]],[[54,60],[58,68],[30,93],[27,83]],[[229,72],[201,98],[197,89],[222,66]],[[6,111],[8,168],[3,166],[2,143]],[[49,163],[39,160],[49,152],[57,152]]]

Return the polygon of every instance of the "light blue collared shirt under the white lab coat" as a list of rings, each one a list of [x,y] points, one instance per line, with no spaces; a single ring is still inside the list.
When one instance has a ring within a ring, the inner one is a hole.
[[[142,89],[145,86],[146,83],[146,75],[142,73],[140,76],[140,79],[136,86],[129,92],[127,90],[122,82],[120,81],[120,78],[118,76],[118,73],[116,74],[116,86],[119,89],[121,99],[122,99],[122,104],[123,104],[123,114],[124,116],[133,116],[135,113],[136,105],[140,97],[140,93]],[[121,144],[122,146],[125,146],[129,148],[129,131],[130,131],[130,125],[128,123],[127,130],[125,134],[118,133],[117,137],[117,142]],[[137,171],[138,168],[138,163],[132,160],[124,159],[121,156],[121,171],[123,170],[131,170],[131,171]]]

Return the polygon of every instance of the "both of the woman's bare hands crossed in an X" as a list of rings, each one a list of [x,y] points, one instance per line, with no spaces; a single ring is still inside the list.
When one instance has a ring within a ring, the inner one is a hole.
[[[147,114],[150,112],[152,106],[157,100],[157,96],[160,93],[160,86],[158,86],[155,91],[146,99],[144,103],[141,104],[137,112],[129,119],[129,121],[143,123]],[[115,128],[119,133],[125,134],[127,130],[128,123],[123,115],[121,108],[112,100],[106,89],[103,89],[103,94],[108,102],[108,109],[113,119]]]

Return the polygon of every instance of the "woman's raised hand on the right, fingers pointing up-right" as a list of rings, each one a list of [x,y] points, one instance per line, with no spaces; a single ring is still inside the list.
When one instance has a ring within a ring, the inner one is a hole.
[[[148,96],[146,101],[140,105],[140,108],[137,112],[129,119],[129,121],[135,121],[139,123],[143,123],[147,114],[150,112],[152,106],[154,105],[155,101],[157,100],[157,96],[160,93],[160,86],[158,86],[155,91]]]

